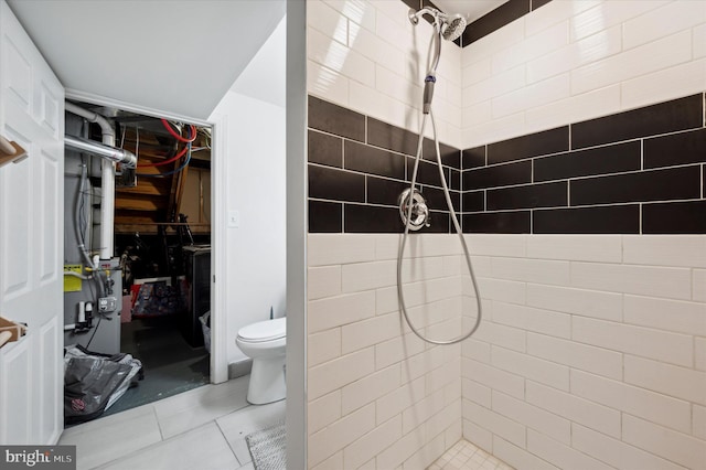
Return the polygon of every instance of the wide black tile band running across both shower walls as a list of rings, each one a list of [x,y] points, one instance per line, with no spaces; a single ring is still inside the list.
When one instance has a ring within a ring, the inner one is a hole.
[[[417,136],[314,99],[310,231],[400,233],[397,199],[409,186]],[[440,146],[463,231],[706,234],[704,104],[702,93],[462,151]],[[419,162],[418,189],[432,212],[422,231],[449,233],[438,173]]]

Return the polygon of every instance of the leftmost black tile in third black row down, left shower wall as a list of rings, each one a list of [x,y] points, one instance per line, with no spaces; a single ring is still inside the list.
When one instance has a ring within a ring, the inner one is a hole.
[[[310,164],[309,197],[365,202],[365,175]]]

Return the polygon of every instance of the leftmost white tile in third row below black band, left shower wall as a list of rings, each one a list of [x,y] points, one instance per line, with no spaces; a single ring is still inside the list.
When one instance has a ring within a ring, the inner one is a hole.
[[[309,333],[341,327],[375,314],[375,291],[310,300],[307,309]]]

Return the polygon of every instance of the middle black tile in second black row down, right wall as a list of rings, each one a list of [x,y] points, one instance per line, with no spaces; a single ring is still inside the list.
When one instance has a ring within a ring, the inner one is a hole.
[[[640,142],[578,150],[534,161],[534,181],[640,170]]]

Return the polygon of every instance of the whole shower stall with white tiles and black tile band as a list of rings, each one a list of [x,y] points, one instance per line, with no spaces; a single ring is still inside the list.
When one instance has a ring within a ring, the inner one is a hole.
[[[438,3],[307,4],[309,468],[704,469],[706,2]]]

